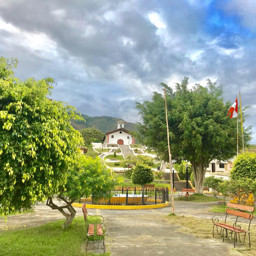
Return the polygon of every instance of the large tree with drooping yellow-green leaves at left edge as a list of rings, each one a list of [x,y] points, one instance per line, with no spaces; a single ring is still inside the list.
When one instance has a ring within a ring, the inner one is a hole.
[[[17,59],[0,59],[0,213],[31,209],[64,186],[81,134],[74,108],[51,101],[54,80],[14,76]]]

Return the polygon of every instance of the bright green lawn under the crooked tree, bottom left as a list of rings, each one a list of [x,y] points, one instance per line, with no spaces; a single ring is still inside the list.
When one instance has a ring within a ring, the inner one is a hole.
[[[64,219],[23,230],[0,232],[0,255],[5,256],[95,256],[86,254],[81,245],[86,241],[83,217],[76,217],[67,230],[62,229]]]

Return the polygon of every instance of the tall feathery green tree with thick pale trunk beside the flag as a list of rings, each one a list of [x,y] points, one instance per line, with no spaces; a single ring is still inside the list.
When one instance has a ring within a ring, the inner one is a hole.
[[[189,89],[187,77],[176,83],[175,91],[163,83],[161,86],[167,93],[172,157],[177,162],[190,161],[195,188],[202,193],[202,181],[210,161],[226,161],[236,154],[236,119],[227,117],[232,103],[224,102],[222,86],[209,79],[207,87],[196,84]],[[163,95],[153,92],[151,101],[136,103],[136,107],[143,122],[139,131],[145,145],[169,161]],[[251,139],[250,130],[251,127],[244,128],[245,145]]]

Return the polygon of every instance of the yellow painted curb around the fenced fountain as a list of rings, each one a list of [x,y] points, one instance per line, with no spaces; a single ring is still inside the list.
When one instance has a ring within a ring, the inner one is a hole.
[[[154,209],[162,208],[170,205],[170,202],[159,203],[158,205],[90,205],[86,204],[86,208],[90,209],[111,209],[111,210],[137,210],[137,209]],[[82,208],[82,203],[72,203],[73,207]]]

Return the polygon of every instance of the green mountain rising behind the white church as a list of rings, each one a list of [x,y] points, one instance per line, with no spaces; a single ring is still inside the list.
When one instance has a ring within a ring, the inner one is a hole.
[[[95,126],[98,129],[100,129],[103,133],[107,133],[108,131],[113,131],[117,129],[117,124],[116,122],[118,120],[123,120],[122,118],[116,118],[116,117],[89,117],[88,115],[81,115],[84,119],[85,122],[82,121],[71,121],[71,125],[76,129],[76,130],[81,130],[83,128]],[[124,120],[123,120],[124,121]],[[135,123],[125,123],[125,129],[130,130],[130,131],[137,131],[138,125]]]

